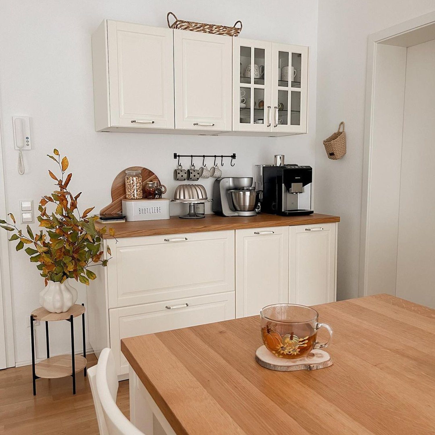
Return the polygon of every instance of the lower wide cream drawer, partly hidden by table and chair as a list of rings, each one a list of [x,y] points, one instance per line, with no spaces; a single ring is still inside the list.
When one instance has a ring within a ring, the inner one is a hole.
[[[117,374],[128,373],[127,360],[120,350],[121,338],[234,318],[234,291],[134,307],[113,308],[109,310],[110,348],[115,356]]]

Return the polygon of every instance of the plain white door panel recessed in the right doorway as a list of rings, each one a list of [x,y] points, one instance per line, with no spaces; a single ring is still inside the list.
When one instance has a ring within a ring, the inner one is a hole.
[[[435,308],[435,40],[408,47],[396,296]],[[415,219],[415,214],[418,219]]]

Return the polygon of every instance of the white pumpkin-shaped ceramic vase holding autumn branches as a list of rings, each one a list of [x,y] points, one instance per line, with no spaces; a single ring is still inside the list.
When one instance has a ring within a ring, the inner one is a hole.
[[[48,281],[39,294],[39,303],[51,313],[64,313],[77,301],[77,290],[71,287],[68,280],[63,283]]]

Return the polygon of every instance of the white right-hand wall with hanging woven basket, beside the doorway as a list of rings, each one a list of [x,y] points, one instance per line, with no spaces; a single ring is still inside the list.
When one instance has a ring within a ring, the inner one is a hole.
[[[433,10],[433,0],[318,2],[315,209],[341,217],[338,299],[358,296],[367,37]],[[331,161],[322,140],[341,120],[348,152]]]

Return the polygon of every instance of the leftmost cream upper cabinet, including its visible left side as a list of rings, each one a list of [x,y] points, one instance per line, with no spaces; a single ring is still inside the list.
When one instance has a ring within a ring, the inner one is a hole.
[[[171,29],[107,20],[92,49],[97,131],[174,128]]]

